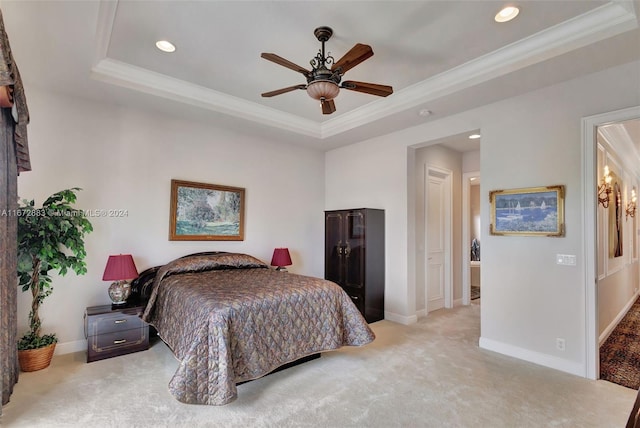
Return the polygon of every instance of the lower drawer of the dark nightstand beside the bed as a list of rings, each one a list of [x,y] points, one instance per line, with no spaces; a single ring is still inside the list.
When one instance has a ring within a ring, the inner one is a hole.
[[[142,351],[149,348],[149,327],[89,336],[88,342],[87,362]]]

